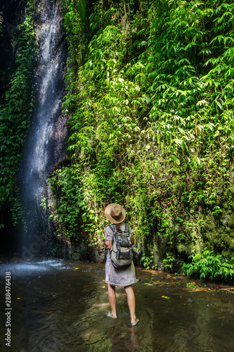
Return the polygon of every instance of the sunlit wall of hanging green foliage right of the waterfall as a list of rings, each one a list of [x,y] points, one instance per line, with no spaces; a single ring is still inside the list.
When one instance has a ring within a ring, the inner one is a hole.
[[[70,234],[96,244],[118,202],[166,269],[206,242],[233,256],[233,2],[66,4],[70,165],[54,187],[71,209],[79,189]]]

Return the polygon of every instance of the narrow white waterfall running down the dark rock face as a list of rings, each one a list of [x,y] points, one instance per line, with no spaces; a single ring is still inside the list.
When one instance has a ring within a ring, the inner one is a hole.
[[[62,113],[67,46],[59,1],[41,1],[37,16],[39,63],[34,78],[36,101],[20,166],[20,188],[25,221],[21,255],[31,259],[50,254],[53,227],[45,206],[46,179],[65,159],[66,120]],[[52,236],[53,237],[53,236]]]

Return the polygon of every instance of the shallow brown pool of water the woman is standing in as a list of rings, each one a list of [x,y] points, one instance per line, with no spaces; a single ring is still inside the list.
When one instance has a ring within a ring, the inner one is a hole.
[[[209,291],[195,291],[186,287],[192,281],[186,277],[164,277],[163,272],[136,268],[140,322],[131,327],[122,288],[117,288],[117,320],[105,315],[110,308],[103,269],[103,264],[63,260],[0,264],[1,312],[5,309],[4,276],[11,271],[11,351],[234,350],[231,292],[216,291],[211,285]],[[155,284],[144,285],[151,278]],[[0,350],[9,351],[4,314],[0,333]]]

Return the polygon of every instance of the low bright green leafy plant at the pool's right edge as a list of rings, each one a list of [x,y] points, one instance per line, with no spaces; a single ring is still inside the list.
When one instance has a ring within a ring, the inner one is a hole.
[[[201,279],[232,279],[234,274],[234,258],[223,260],[221,254],[214,256],[213,251],[204,249],[202,253],[192,254],[188,258],[191,263],[183,264],[185,275],[200,275]]]

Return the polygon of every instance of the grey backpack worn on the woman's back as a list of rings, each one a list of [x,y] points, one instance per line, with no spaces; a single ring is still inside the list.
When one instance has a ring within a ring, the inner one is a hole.
[[[110,250],[110,258],[112,265],[117,269],[126,269],[131,265],[133,258],[131,249],[131,237],[129,235],[129,225],[124,224],[122,231],[117,231],[115,225],[109,225],[114,232],[112,249]]]

